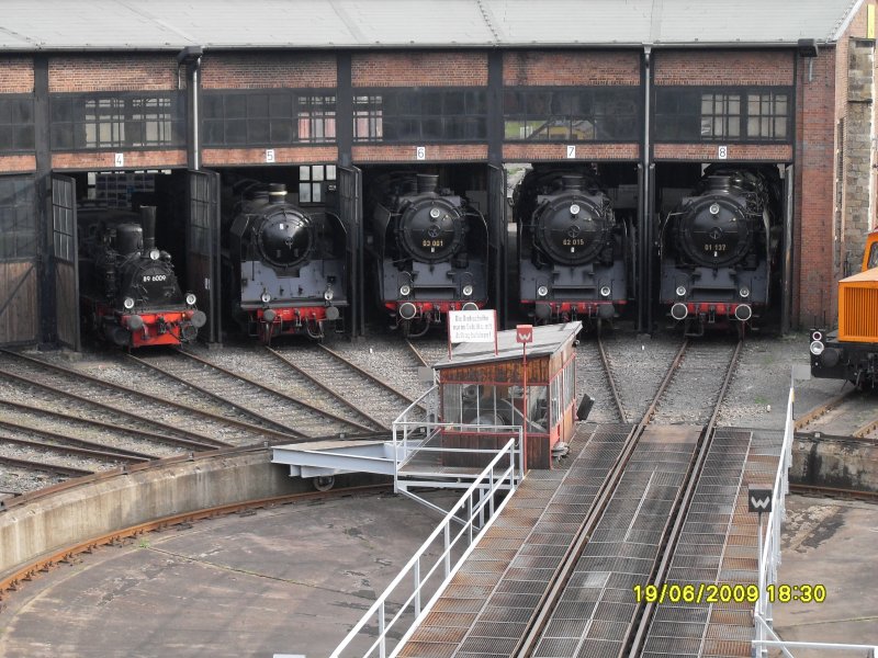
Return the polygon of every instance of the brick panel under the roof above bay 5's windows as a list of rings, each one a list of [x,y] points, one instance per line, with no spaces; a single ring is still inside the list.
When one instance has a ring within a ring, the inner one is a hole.
[[[333,53],[209,53],[201,60],[203,89],[331,88]]]

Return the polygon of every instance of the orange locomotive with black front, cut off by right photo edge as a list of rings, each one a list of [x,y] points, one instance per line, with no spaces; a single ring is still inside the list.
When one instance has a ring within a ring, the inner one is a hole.
[[[866,238],[862,271],[838,282],[838,326],[811,330],[811,375],[878,388],[878,230]]]

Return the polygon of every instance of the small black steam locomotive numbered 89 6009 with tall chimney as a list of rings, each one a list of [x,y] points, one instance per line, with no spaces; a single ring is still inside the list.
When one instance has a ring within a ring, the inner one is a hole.
[[[156,208],[82,207],[79,290],[82,318],[128,348],[178,345],[194,340],[206,316],[195,295],[182,294],[171,257],[156,248]]]

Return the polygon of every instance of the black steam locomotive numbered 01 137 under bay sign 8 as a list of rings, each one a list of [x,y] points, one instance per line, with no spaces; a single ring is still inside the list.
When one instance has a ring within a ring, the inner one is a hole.
[[[780,232],[780,177],[773,167],[708,167],[661,231],[663,307],[702,336],[747,324],[769,303]]]

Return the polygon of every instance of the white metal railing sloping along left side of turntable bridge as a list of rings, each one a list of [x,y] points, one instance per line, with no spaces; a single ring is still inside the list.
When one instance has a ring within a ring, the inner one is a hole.
[[[496,453],[330,658],[397,655],[515,492],[520,481],[520,438],[516,443],[510,439]],[[457,533],[452,533],[452,522],[462,522]],[[375,633],[370,645],[360,642],[359,649],[352,646],[360,636],[371,639]]]

